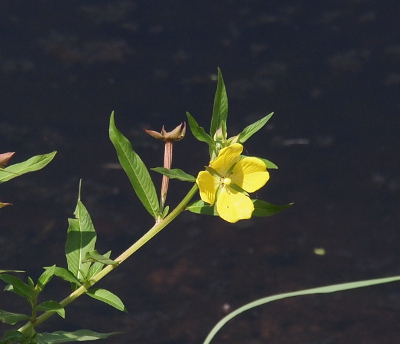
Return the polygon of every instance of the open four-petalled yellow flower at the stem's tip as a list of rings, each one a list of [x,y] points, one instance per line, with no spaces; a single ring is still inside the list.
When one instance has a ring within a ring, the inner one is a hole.
[[[247,192],[262,188],[269,179],[264,162],[254,157],[241,158],[243,146],[235,143],[221,149],[196,183],[201,199],[213,205],[218,215],[228,222],[249,219],[254,205]]]

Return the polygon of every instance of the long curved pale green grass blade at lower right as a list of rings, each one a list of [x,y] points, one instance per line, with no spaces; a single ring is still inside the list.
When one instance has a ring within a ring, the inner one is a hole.
[[[232,313],[230,313],[227,316],[225,316],[224,318],[222,318],[214,326],[214,328],[211,330],[211,332],[208,334],[208,336],[204,340],[203,344],[209,344],[211,342],[211,340],[215,337],[217,332],[229,320],[233,319],[234,317],[236,317],[240,313],[243,313],[243,312],[248,311],[250,309],[253,309],[255,307],[264,305],[264,304],[266,304],[268,302],[281,300],[281,299],[286,299],[286,298],[294,297],[294,296],[301,296],[301,295],[334,293],[334,292],[343,291],[343,290],[350,290],[350,289],[356,289],[356,288],[369,287],[369,286],[372,286],[372,285],[390,283],[390,282],[396,282],[396,281],[400,281],[400,276],[377,278],[377,279],[372,279],[372,280],[350,282],[350,283],[333,284],[333,285],[328,285],[328,286],[325,286],[325,287],[305,289],[305,290],[300,290],[300,291],[294,291],[294,292],[289,292],[289,293],[283,293],[283,294],[263,297],[262,299],[255,300],[253,302],[250,302],[250,303],[248,303],[248,304],[236,309]]]

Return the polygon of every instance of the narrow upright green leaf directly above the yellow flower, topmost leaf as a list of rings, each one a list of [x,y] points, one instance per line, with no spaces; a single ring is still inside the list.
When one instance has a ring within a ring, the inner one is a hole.
[[[225,83],[222,72],[218,68],[218,84],[215,92],[213,115],[211,118],[210,135],[214,137],[215,132],[222,128],[228,117],[228,96],[226,94]]]

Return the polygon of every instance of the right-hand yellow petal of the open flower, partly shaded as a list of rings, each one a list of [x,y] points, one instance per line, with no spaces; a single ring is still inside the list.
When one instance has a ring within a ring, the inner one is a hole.
[[[269,179],[269,172],[262,160],[246,157],[235,165],[230,178],[232,183],[251,193],[265,185]]]

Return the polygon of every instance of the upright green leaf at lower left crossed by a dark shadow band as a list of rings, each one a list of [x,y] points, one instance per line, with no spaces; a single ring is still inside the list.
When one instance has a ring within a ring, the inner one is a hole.
[[[65,255],[67,257],[68,270],[80,281],[87,278],[90,263],[83,263],[87,252],[92,252],[96,244],[96,231],[92,219],[83,203],[78,200],[75,209],[76,219],[68,219],[69,227]]]

